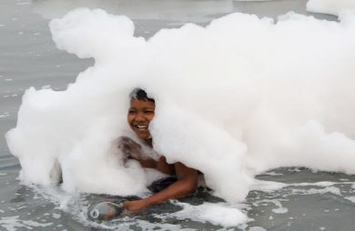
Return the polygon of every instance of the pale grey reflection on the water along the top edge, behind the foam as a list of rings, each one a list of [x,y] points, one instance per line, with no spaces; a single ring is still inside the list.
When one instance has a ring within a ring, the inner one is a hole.
[[[34,11],[46,18],[59,17],[77,7],[101,8],[110,14],[132,19],[207,22],[215,16],[231,13],[231,0],[33,0]]]

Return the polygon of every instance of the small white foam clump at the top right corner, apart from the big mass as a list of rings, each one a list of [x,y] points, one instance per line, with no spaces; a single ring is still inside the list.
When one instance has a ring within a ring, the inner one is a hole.
[[[340,15],[344,10],[355,10],[353,0],[309,0],[307,10],[314,13]]]

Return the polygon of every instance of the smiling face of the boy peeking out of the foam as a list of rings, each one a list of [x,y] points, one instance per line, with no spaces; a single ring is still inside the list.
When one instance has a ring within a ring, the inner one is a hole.
[[[150,138],[148,125],[154,117],[156,104],[147,100],[131,99],[127,121],[132,130],[141,139]]]

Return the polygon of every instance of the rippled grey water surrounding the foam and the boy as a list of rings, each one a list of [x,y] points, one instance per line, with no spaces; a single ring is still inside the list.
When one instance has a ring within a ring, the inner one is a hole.
[[[136,35],[149,37],[160,28],[186,22],[207,25],[210,20],[232,12],[277,18],[290,10],[309,15],[306,0],[233,2],[227,0],[2,0],[0,2],[0,230],[225,230],[222,226],[164,216],[180,209],[165,203],[144,214],[128,216],[107,224],[86,218],[87,206],[103,196],[67,196],[59,187],[25,185],[17,179],[21,166],[5,143],[5,132],[15,126],[21,97],[30,86],[66,89],[76,75],[93,64],[56,49],[48,30],[51,18],[78,6],[103,8],[111,14],[128,15],[137,26]],[[313,14],[327,20],[331,15]],[[355,230],[355,176],[312,172],[306,168],[279,168],[258,176],[261,180],[289,184],[273,192],[251,191],[240,204],[249,223],[229,230]],[[330,181],[331,187],[298,183]],[[59,203],[67,199],[65,206]],[[193,205],[218,202],[200,189],[181,200]],[[160,215],[160,216],[157,216]]]

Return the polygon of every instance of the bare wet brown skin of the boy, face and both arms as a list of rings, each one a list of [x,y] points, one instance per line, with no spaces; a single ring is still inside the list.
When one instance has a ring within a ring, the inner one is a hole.
[[[144,141],[148,146],[152,146],[152,138],[148,130],[150,121],[155,115],[155,103],[147,100],[131,99],[130,107],[127,115],[127,122],[136,135]],[[132,154],[141,166],[156,168],[162,173],[177,176],[177,182],[168,186],[155,195],[148,196],[141,200],[127,201],[124,203],[128,213],[141,211],[146,206],[159,204],[168,199],[188,196],[195,192],[198,186],[198,171],[196,169],[185,166],[182,163],[173,165],[167,164],[166,158],[161,156],[157,161],[153,159],[142,158],[142,148],[136,142],[128,137],[123,137],[120,141],[119,148],[124,153]]]

